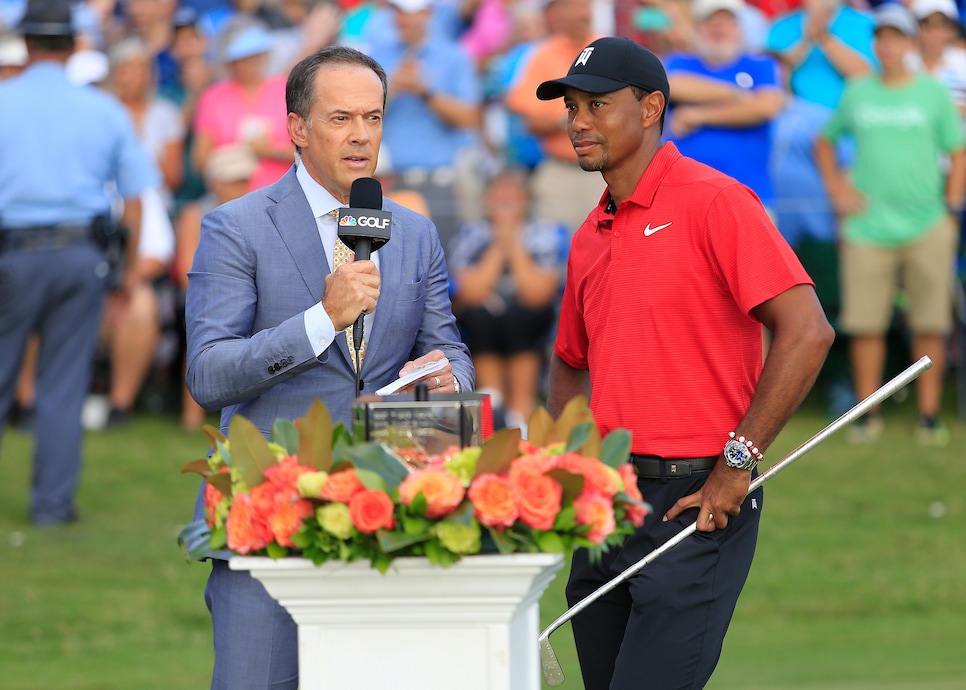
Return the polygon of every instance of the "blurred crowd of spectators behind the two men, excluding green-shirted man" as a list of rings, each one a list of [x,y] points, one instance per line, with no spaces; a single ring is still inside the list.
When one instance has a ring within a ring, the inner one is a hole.
[[[289,168],[288,71],[333,43],[359,48],[389,74],[377,175],[387,196],[437,224],[477,389],[493,395],[498,424],[523,424],[540,401],[569,240],[604,189],[598,175],[577,166],[561,102],[538,101],[535,87],[565,74],[600,36],[631,37],[661,56],[671,83],[666,139],[758,194],[813,276],[835,324],[842,209],[816,164],[815,144],[847,81],[880,69],[878,4],[76,3],[79,34],[68,74],[113,93],[127,108],[161,179],[141,199],[138,287],[130,299],[109,301],[105,309],[88,426],[123,426],[138,410],[178,410],[185,429],[205,420],[182,384],[182,299],[201,218]],[[0,79],[15,77],[27,63],[17,32],[25,6],[26,0],[0,0]],[[910,40],[904,64],[945,84],[966,117],[960,8],[955,0],[911,0],[907,7],[912,33],[897,29]],[[837,161],[848,169],[854,156],[849,138],[833,143]],[[903,161],[897,157],[894,165],[901,170]],[[944,163],[937,159],[936,165]],[[56,166],[50,172],[55,176]],[[961,205],[950,212],[961,214]],[[952,287],[958,295],[961,285]],[[899,288],[890,300],[901,306]],[[890,338],[905,342],[903,311],[893,318]],[[821,379],[834,412],[855,399],[846,340],[839,339]],[[940,346],[959,352],[962,344],[943,337]],[[939,362],[940,380],[945,363]],[[28,356],[10,420],[23,427],[31,424],[31,367]],[[939,436],[927,440],[942,442]]]

